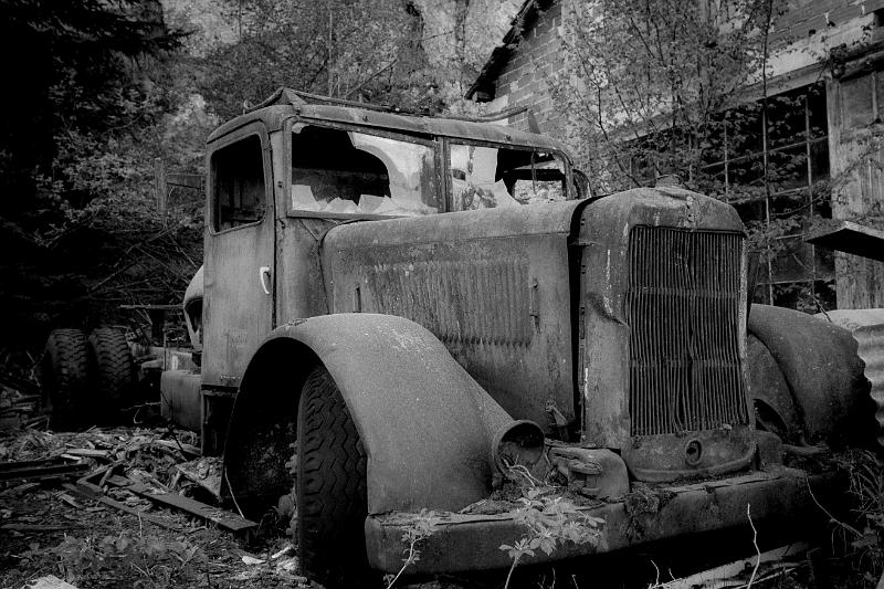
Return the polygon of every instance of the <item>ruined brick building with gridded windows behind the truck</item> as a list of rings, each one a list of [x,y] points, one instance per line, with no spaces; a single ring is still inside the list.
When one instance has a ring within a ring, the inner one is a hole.
[[[568,114],[557,107],[548,82],[567,74],[562,52],[571,1],[526,1],[467,97],[491,103],[490,111],[532,105],[540,130],[561,136]],[[699,10],[726,9],[726,0],[697,1]],[[760,264],[756,301],[804,311],[884,306],[881,262],[803,241],[811,219],[880,225],[884,0],[774,0],[772,7],[765,81],[769,106],[751,123],[756,140],[738,147],[722,141],[719,157],[706,168],[722,179],[719,196],[727,198],[729,183],[751,181],[761,164],[767,169],[791,158],[788,182],[761,198],[732,200],[747,224],[794,221],[771,238],[774,253]],[[760,98],[759,88],[743,96],[747,103]],[[527,113],[508,124],[528,128]],[[801,293],[810,293],[811,303],[800,301]]]

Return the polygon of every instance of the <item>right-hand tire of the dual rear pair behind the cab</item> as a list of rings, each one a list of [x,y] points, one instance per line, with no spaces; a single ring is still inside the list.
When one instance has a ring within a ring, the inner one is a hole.
[[[95,400],[107,412],[122,409],[135,386],[135,364],[126,334],[112,327],[98,327],[90,334],[90,354],[94,375]]]

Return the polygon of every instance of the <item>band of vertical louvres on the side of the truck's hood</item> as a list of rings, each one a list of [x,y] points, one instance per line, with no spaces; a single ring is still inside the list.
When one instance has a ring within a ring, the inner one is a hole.
[[[421,261],[361,270],[364,312],[408,317],[446,344],[532,340],[525,260]]]

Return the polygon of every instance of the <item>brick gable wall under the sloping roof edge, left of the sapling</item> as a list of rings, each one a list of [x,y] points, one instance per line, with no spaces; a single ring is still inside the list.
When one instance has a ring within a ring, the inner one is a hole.
[[[561,3],[538,2],[541,8],[528,14],[522,27],[522,40],[504,63],[495,80],[495,96],[505,97],[506,107],[532,105],[540,130],[552,134],[560,129],[547,80],[564,66],[561,56]],[[527,130],[527,114],[509,119],[516,128]]]

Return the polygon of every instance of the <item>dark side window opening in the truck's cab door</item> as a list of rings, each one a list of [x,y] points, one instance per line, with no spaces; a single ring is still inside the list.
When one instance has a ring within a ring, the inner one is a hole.
[[[256,135],[218,149],[212,154],[211,170],[215,231],[264,217],[264,154]]]

